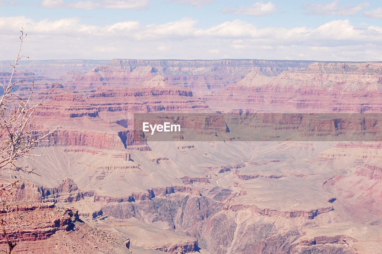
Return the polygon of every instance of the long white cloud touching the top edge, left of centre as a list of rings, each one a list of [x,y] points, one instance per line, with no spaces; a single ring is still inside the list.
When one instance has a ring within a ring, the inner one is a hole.
[[[81,10],[96,10],[96,9],[129,9],[142,10],[146,9],[151,0],[98,0],[98,1],[77,1],[66,2],[65,0],[43,0],[41,7],[47,9],[81,9]]]

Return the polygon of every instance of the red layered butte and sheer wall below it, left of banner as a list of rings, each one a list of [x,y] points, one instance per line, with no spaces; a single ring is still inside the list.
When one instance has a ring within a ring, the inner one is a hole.
[[[131,89],[100,86],[88,94],[53,94],[36,110],[34,121],[42,130],[60,123],[48,142],[41,143],[45,146],[149,150],[143,134],[134,134],[134,113],[204,110],[208,105],[191,90],[169,85],[158,75]]]

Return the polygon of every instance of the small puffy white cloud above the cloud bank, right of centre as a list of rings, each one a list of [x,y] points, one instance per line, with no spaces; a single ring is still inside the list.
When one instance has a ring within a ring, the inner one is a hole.
[[[233,7],[228,7],[221,12],[223,13],[231,13],[236,15],[250,15],[250,16],[265,16],[270,15],[277,11],[278,8],[272,2],[264,3],[264,2],[256,2],[249,7],[240,6],[235,9]]]

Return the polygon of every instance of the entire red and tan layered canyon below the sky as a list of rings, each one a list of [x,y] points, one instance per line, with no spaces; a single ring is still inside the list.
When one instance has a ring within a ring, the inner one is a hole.
[[[22,61],[17,77],[20,97],[55,87],[33,122],[57,130],[17,161],[38,175],[11,171],[16,253],[380,252],[380,62]],[[181,131],[152,139],[142,115]]]

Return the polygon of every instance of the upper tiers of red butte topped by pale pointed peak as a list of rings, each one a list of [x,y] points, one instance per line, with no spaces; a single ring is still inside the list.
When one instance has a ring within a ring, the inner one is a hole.
[[[139,86],[117,88],[110,85],[99,86],[95,91],[83,95],[82,98],[85,102],[81,104],[70,101],[73,97],[69,97],[66,108],[60,102],[51,101],[46,110],[52,111],[57,108],[63,114],[68,115],[70,113],[70,116],[74,118],[86,116],[84,114],[86,112],[87,116],[93,116],[89,114],[96,112],[95,117],[100,114],[104,114],[105,117],[114,117],[115,113],[113,112],[145,113],[163,110],[196,112],[208,108],[203,100],[193,96],[190,89],[172,86],[167,84],[164,79],[163,76],[158,75],[139,84]],[[76,99],[79,100],[80,98]]]

